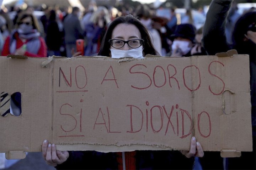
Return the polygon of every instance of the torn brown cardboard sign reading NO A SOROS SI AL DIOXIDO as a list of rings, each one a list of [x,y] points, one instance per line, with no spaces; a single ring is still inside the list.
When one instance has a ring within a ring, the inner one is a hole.
[[[247,55],[1,57],[0,92],[20,92],[22,113],[0,116],[0,152],[39,152],[45,139],[58,150],[189,150],[192,136],[204,151],[252,151],[249,81]]]

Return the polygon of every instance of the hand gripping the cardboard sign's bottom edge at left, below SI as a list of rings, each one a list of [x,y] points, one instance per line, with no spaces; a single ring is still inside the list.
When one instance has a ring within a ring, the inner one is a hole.
[[[57,151],[56,145],[48,143],[47,140],[43,141],[42,154],[46,163],[52,166],[62,164],[69,157],[68,151]]]

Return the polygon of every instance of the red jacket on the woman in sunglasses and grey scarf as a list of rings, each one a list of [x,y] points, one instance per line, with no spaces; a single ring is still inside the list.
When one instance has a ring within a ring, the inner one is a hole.
[[[17,40],[17,44],[16,44],[16,49],[20,48],[21,46],[23,46],[23,44],[26,44],[26,42],[22,42],[22,40],[20,38],[18,38],[18,36],[16,36],[16,40]],[[30,52],[25,52],[25,56],[28,56],[28,57],[47,57],[47,46],[46,46],[46,43],[44,41],[44,39],[42,37],[39,37],[39,40],[40,40],[40,48],[38,50],[38,53],[37,54],[34,54],[34,53],[30,53]],[[11,54],[10,53],[10,36],[8,36],[5,40],[5,43],[4,43],[4,47],[3,47],[3,50],[2,50],[2,53],[1,55],[2,56],[7,56]]]

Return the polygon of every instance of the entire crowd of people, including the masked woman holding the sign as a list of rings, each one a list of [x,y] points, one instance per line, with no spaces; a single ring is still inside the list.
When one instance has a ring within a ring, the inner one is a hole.
[[[30,7],[17,11],[13,22],[5,19],[5,27],[1,24],[1,55],[72,57],[74,54],[79,55],[76,53],[78,39],[84,39],[85,56],[144,58],[146,54],[151,54],[188,57],[215,55],[229,49],[236,49],[239,54],[249,54],[253,152],[242,152],[241,158],[228,158],[223,164],[219,152],[203,152],[200,143],[192,137],[188,152],[129,152],[126,157],[132,161],[126,165],[127,169],[192,169],[194,156],[204,155],[200,158],[203,169],[256,169],[256,10],[251,8],[237,17],[234,16],[237,13],[232,11],[232,2],[213,0],[206,15],[206,23],[199,29],[193,25],[190,10],[187,10],[181,24],[177,24],[174,8],[170,8],[171,16],[167,19],[156,16],[155,10],[147,5],[132,10],[118,10],[97,6],[91,1],[84,15],[78,7],[73,7],[71,13],[68,13],[67,8],[60,11],[48,7],[40,18],[33,16],[33,8]],[[7,18],[4,13],[1,16]],[[47,140],[43,142],[42,152],[46,163],[57,169],[122,169],[122,163],[118,161],[122,154],[119,153],[61,152],[56,151],[56,146]]]

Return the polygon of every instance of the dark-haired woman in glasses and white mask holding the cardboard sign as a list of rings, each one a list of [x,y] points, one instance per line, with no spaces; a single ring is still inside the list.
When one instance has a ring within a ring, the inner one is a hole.
[[[98,55],[112,58],[144,58],[158,55],[148,31],[133,16],[121,16],[109,25]],[[192,169],[194,156],[203,157],[203,149],[191,138],[190,151],[133,151],[101,153],[96,151],[57,151],[56,145],[43,142],[46,163],[56,169]],[[185,156],[184,156],[185,155]]]

